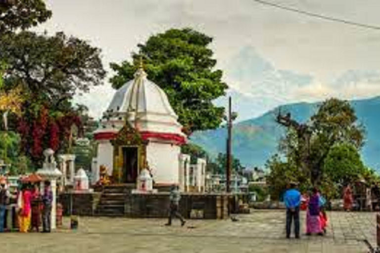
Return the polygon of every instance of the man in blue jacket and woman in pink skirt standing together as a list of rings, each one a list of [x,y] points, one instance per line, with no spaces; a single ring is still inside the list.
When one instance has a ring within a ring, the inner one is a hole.
[[[301,193],[296,189],[295,183],[290,183],[285,192],[284,202],[286,206],[286,238],[290,238],[291,225],[294,221],[295,238],[300,238],[299,212],[306,210],[306,235],[317,234],[323,236],[326,233],[327,214],[325,211],[326,200],[313,188],[310,194]]]

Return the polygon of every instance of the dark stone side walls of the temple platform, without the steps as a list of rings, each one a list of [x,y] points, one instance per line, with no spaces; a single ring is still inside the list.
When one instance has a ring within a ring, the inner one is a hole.
[[[95,214],[101,193],[64,193],[59,196],[63,215],[70,215],[72,201],[75,215],[92,216]],[[223,194],[183,194],[180,212],[185,218],[225,219],[232,211],[231,195]],[[169,193],[126,194],[124,216],[133,218],[165,218],[170,205]],[[97,215],[101,215],[97,214]]]

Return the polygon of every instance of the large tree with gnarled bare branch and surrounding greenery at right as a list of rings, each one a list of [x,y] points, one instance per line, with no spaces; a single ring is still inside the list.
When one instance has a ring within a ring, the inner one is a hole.
[[[285,187],[286,182],[277,179],[281,173],[288,181],[298,181],[301,187],[311,183],[319,185],[332,196],[335,185],[344,179],[344,169],[352,172],[347,172],[347,180],[357,178],[353,174],[363,175],[367,171],[358,155],[364,143],[364,127],[357,123],[355,111],[347,101],[336,98],[324,101],[308,124],[297,123],[290,114],[279,116],[278,122],[286,126],[287,131],[279,146],[281,156],[267,164],[273,196],[279,196],[279,190]],[[344,152],[348,157],[343,156]],[[348,160],[347,166],[352,165],[352,168],[345,168]],[[335,165],[340,167],[335,168]]]

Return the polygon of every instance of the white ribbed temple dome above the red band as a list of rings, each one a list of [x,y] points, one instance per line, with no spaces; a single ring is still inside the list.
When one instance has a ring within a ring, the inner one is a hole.
[[[103,113],[95,138],[101,133],[118,132],[125,125],[126,119],[145,136],[163,133],[175,134],[180,139],[186,138],[167,95],[157,84],[147,79],[142,68],[135,73],[134,80],[116,91],[107,111]]]

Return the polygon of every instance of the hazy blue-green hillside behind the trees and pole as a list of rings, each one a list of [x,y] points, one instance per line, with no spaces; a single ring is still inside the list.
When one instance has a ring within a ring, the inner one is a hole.
[[[366,129],[365,146],[361,150],[367,166],[380,172],[380,97],[353,100],[358,122]],[[317,110],[320,103],[296,103],[281,106],[283,112],[290,112],[300,122],[306,122]],[[277,152],[278,142],[285,134],[285,128],[275,122],[279,108],[264,115],[239,122],[233,128],[233,154],[247,168],[263,167]],[[190,141],[201,146],[211,156],[226,151],[227,128],[199,131],[191,135]]]

